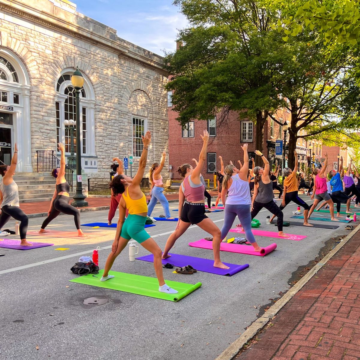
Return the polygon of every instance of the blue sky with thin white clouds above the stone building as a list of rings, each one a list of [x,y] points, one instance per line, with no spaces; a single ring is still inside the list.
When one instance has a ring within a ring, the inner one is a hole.
[[[164,56],[188,24],[172,0],[72,0],[76,10],[117,30],[117,36]]]

